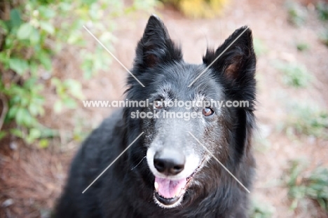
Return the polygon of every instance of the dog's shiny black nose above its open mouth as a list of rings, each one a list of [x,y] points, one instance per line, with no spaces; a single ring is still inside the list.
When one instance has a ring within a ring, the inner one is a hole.
[[[177,175],[184,170],[185,158],[182,152],[163,150],[156,152],[153,165],[165,175]]]

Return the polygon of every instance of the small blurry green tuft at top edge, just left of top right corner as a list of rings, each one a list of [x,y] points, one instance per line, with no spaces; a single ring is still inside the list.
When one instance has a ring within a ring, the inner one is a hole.
[[[307,11],[301,4],[294,1],[287,1],[286,8],[288,13],[288,20],[296,27],[300,27],[306,21]]]

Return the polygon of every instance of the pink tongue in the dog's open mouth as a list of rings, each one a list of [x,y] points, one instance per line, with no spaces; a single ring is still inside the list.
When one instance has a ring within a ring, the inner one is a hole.
[[[170,180],[155,177],[155,182],[158,183],[158,193],[164,198],[174,198],[177,191],[181,191],[186,186],[186,179]]]

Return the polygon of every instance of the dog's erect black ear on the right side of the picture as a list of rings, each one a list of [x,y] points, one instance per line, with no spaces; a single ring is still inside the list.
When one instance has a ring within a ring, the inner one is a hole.
[[[248,27],[235,30],[215,52],[207,49],[203,62],[221,75],[228,87],[243,90],[252,86],[255,90],[256,57],[252,31]]]

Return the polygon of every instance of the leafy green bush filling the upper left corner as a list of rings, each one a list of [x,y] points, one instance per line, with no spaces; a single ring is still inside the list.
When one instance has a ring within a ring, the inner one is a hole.
[[[140,2],[135,0],[130,11],[141,6]],[[149,0],[147,4],[152,6],[153,2]],[[108,22],[102,22],[102,19],[111,20],[123,15],[124,5],[121,1],[104,0],[31,0],[21,5],[12,1],[7,4],[11,8],[10,18],[0,20],[0,45],[4,39],[0,48],[0,93],[5,95],[2,101],[8,100],[4,102],[8,104],[5,121],[15,123],[16,128],[9,130],[12,135],[21,137],[28,144],[40,139],[39,146],[47,147],[46,138],[55,137],[57,132],[39,123],[39,118],[45,115],[43,90],[55,90],[57,100],[53,109],[56,113],[60,113],[63,107],[76,108],[76,100],[83,99],[78,81],[53,76],[53,56],[60,55],[67,46],[74,48],[85,79],[106,69],[109,55],[98,44],[95,50],[87,50],[86,45],[95,42],[83,38],[83,32],[86,32],[83,25],[104,46],[111,48],[114,25],[106,26]],[[43,79],[41,75],[45,73],[50,79]],[[6,133],[1,131],[0,137]]]

